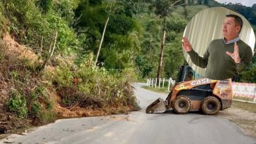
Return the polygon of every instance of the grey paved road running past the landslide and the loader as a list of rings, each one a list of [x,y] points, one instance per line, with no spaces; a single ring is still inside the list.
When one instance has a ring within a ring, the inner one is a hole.
[[[238,127],[215,116],[196,112],[189,114],[146,114],[146,106],[158,93],[141,89],[135,84],[135,94],[142,110],[127,115],[60,119],[40,126],[24,136],[11,135],[0,143],[203,143],[203,144],[255,144],[256,139],[245,136]]]

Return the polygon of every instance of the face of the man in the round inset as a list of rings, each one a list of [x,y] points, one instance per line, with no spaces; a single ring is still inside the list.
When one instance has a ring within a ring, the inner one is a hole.
[[[222,34],[223,37],[228,39],[234,39],[238,37],[241,27],[236,25],[235,18],[227,17],[225,18],[222,25]]]

